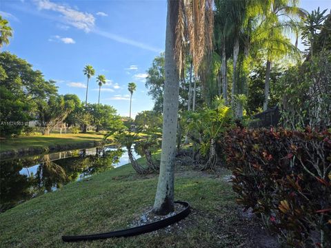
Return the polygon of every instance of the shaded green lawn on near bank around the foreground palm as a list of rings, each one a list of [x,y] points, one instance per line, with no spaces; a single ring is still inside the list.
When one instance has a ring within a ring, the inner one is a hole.
[[[157,174],[138,176],[131,165],[111,169],[0,214],[0,247],[254,247],[245,231],[240,233],[234,194],[223,179],[227,174],[204,174],[189,166],[177,171],[175,198],[188,201],[192,213],[170,232],[63,242],[61,235],[126,228],[153,205]]]

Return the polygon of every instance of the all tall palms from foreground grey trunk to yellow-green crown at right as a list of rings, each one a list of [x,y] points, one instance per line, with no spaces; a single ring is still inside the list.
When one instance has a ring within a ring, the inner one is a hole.
[[[206,88],[210,87],[208,76],[214,76],[215,61],[221,65],[217,72],[219,95],[223,97],[226,105],[232,106],[237,118],[243,116],[248,65],[256,56],[265,59],[263,108],[266,110],[272,63],[285,56],[299,55],[297,42],[292,45],[286,37],[289,32],[299,36],[297,27],[305,11],[298,7],[298,1],[168,0],[163,137],[159,183],[154,201],[155,212],[167,214],[174,207],[179,78],[183,74],[185,56],[192,58],[194,74]],[[231,101],[228,97],[228,61],[232,61],[233,68]],[[217,91],[209,92],[215,96]]]

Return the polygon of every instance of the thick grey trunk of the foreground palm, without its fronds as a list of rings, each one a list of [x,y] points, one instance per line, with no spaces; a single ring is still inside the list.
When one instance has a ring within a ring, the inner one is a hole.
[[[154,201],[154,212],[161,215],[174,211],[174,158],[179,101],[179,74],[177,63],[174,60],[174,44],[178,13],[179,1],[168,0],[165,32],[162,152],[159,183]]]

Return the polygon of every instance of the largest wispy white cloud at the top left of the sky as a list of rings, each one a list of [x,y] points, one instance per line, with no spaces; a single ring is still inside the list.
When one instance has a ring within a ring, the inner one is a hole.
[[[85,32],[90,32],[94,28],[95,18],[93,14],[80,12],[69,6],[53,3],[49,0],[34,0],[34,2],[37,4],[39,10],[52,10],[54,12],[59,12],[66,23],[75,28],[84,30]]]

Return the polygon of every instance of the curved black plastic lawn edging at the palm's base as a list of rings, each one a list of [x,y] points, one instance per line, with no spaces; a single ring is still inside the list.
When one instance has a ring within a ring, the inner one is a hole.
[[[146,225],[141,225],[139,227],[132,227],[129,229],[123,229],[119,231],[110,231],[108,233],[103,234],[88,234],[82,236],[62,236],[62,240],[64,242],[75,242],[75,241],[83,241],[83,240],[97,240],[104,238],[115,238],[115,237],[128,237],[135,236],[139,234],[146,234],[150,231],[156,231],[163,227],[168,227],[168,225],[172,225],[174,223],[179,222],[179,220],[183,220],[186,216],[190,214],[190,204],[183,201],[175,201],[174,203],[179,203],[185,207],[182,211],[174,216],[170,216],[163,220],[158,220],[153,223],[149,223]]]

